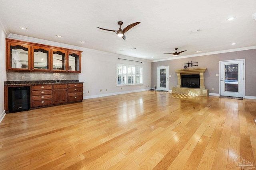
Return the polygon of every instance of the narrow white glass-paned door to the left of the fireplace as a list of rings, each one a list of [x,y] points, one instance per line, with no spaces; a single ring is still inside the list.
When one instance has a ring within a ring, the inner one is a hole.
[[[160,66],[158,69],[158,90],[168,91],[169,66]]]

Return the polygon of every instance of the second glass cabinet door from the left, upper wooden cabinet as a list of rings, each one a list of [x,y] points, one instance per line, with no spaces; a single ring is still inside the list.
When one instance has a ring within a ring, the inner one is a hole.
[[[32,47],[32,70],[46,71],[49,70],[49,53],[50,49],[46,47]]]

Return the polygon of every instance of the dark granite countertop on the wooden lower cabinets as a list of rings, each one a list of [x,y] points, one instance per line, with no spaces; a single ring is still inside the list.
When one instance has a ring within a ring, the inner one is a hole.
[[[37,81],[6,81],[4,86],[13,86],[13,85],[36,85],[36,84],[70,84],[70,83],[82,83],[79,80],[60,80],[56,83],[55,80],[37,80]]]

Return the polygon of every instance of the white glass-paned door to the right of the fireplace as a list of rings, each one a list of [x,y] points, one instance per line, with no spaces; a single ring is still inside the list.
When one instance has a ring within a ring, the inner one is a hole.
[[[243,60],[220,62],[220,96],[243,97]]]

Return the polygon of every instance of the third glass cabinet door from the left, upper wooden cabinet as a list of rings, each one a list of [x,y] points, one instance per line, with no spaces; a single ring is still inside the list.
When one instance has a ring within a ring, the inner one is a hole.
[[[52,49],[52,71],[66,71],[66,51]]]

